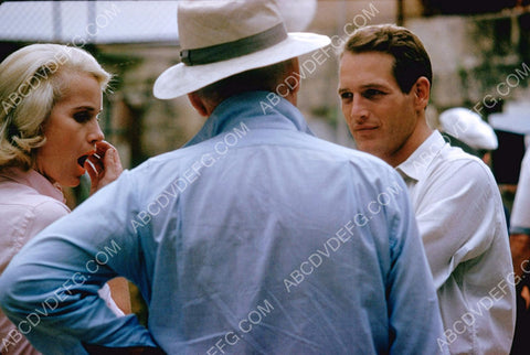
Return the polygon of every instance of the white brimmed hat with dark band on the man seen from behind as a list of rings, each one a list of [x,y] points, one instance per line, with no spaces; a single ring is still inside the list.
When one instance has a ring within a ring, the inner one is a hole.
[[[181,62],[155,82],[160,99],[279,63],[330,43],[326,35],[287,33],[275,0],[179,1]]]

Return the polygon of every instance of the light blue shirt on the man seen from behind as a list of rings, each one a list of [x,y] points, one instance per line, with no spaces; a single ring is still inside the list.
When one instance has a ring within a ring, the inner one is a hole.
[[[439,351],[403,181],[377,158],[312,137],[271,95],[226,99],[186,148],[124,172],[24,247],[0,278],[0,303],[39,349]],[[97,297],[117,275],[139,287],[149,331]]]

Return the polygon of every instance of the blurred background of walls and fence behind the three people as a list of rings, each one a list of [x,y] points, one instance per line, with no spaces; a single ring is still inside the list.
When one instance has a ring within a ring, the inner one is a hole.
[[[438,126],[444,110],[466,107],[494,127],[499,147],[491,169],[511,207],[530,135],[530,0],[278,2],[289,31],[332,37],[330,51],[300,60],[305,79],[299,108],[317,136],[354,148],[340,112],[332,50],[356,28],[404,25],[421,37],[433,62],[431,125]],[[178,149],[203,125],[186,97],[152,96],[155,79],[179,62],[177,1],[0,3],[0,61],[26,44],[54,42],[85,49],[115,75],[100,123],[125,168]],[[85,183],[70,192],[72,208],[86,197],[86,190]]]

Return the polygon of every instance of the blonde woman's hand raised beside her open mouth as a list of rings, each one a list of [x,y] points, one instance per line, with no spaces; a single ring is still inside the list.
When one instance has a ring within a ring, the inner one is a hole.
[[[118,179],[124,171],[118,151],[106,141],[96,143],[96,153],[85,161],[85,169],[91,176],[91,195]]]

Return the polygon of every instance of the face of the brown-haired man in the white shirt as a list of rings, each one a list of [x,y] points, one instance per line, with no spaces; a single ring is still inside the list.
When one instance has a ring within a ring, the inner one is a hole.
[[[414,133],[423,117],[417,82],[409,94],[403,94],[392,74],[393,64],[393,56],[386,53],[346,52],[340,60],[338,92],[359,150],[395,166],[421,144],[418,133]]]

